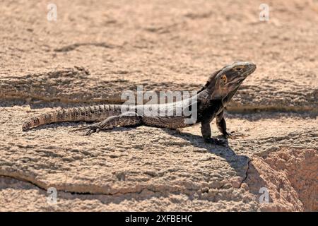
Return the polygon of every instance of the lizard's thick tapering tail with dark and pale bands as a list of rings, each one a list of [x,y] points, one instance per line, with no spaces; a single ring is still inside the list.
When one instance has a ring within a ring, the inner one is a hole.
[[[112,115],[120,114],[120,111],[121,105],[96,105],[57,109],[28,119],[23,123],[22,130],[26,131],[35,126],[62,121],[102,121]]]

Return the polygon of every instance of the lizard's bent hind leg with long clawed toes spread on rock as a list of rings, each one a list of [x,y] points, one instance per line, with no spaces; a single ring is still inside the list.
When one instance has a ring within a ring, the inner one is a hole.
[[[80,129],[74,129],[72,131],[85,130],[85,135],[89,136],[92,133],[98,133],[101,130],[114,129],[117,126],[138,126],[142,123],[142,117],[136,112],[125,112],[123,114],[108,117],[104,121],[100,121],[89,126],[84,126]]]

